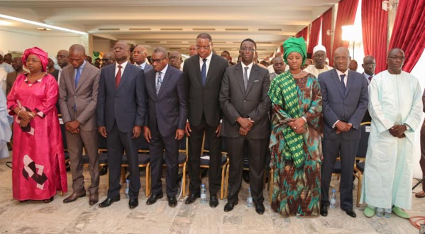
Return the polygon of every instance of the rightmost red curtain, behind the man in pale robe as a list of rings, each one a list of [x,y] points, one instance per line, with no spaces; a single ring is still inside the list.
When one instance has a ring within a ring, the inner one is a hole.
[[[390,49],[404,50],[405,72],[412,72],[425,49],[425,0],[399,1]]]

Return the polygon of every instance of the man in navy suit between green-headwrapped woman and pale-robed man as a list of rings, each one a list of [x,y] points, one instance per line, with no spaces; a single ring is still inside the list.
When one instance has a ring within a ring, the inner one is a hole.
[[[324,162],[321,168],[321,216],[328,215],[329,184],[336,157],[341,158],[341,209],[353,211],[353,169],[360,140],[360,123],[368,108],[368,82],[363,74],[348,69],[350,53],[333,53],[335,69],[319,74],[324,114]]]

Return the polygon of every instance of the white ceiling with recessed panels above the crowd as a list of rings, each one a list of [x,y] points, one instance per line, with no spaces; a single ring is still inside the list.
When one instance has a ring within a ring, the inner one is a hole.
[[[211,35],[214,50],[233,58],[245,38],[258,55],[270,55],[338,0],[0,0],[0,13],[187,54],[199,33]],[[15,30],[34,26],[13,23]],[[55,33],[54,30],[46,33]]]

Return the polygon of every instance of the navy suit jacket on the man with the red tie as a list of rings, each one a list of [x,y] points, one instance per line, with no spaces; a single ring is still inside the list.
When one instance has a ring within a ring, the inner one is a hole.
[[[116,122],[118,130],[129,133],[136,125],[145,126],[145,77],[142,69],[128,62],[116,88],[115,66],[108,65],[100,72],[97,126],[110,131]]]

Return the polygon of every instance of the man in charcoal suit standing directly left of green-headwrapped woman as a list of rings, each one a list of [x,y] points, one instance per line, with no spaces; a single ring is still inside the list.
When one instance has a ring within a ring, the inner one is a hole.
[[[226,138],[230,159],[228,203],[224,206],[226,212],[238,204],[243,155],[245,147],[248,147],[250,190],[255,211],[264,213],[263,176],[270,139],[268,113],[272,103],[267,95],[269,72],[253,63],[256,48],[252,39],[243,40],[239,50],[242,62],[228,67],[221,82],[220,103],[225,117],[221,135]]]

